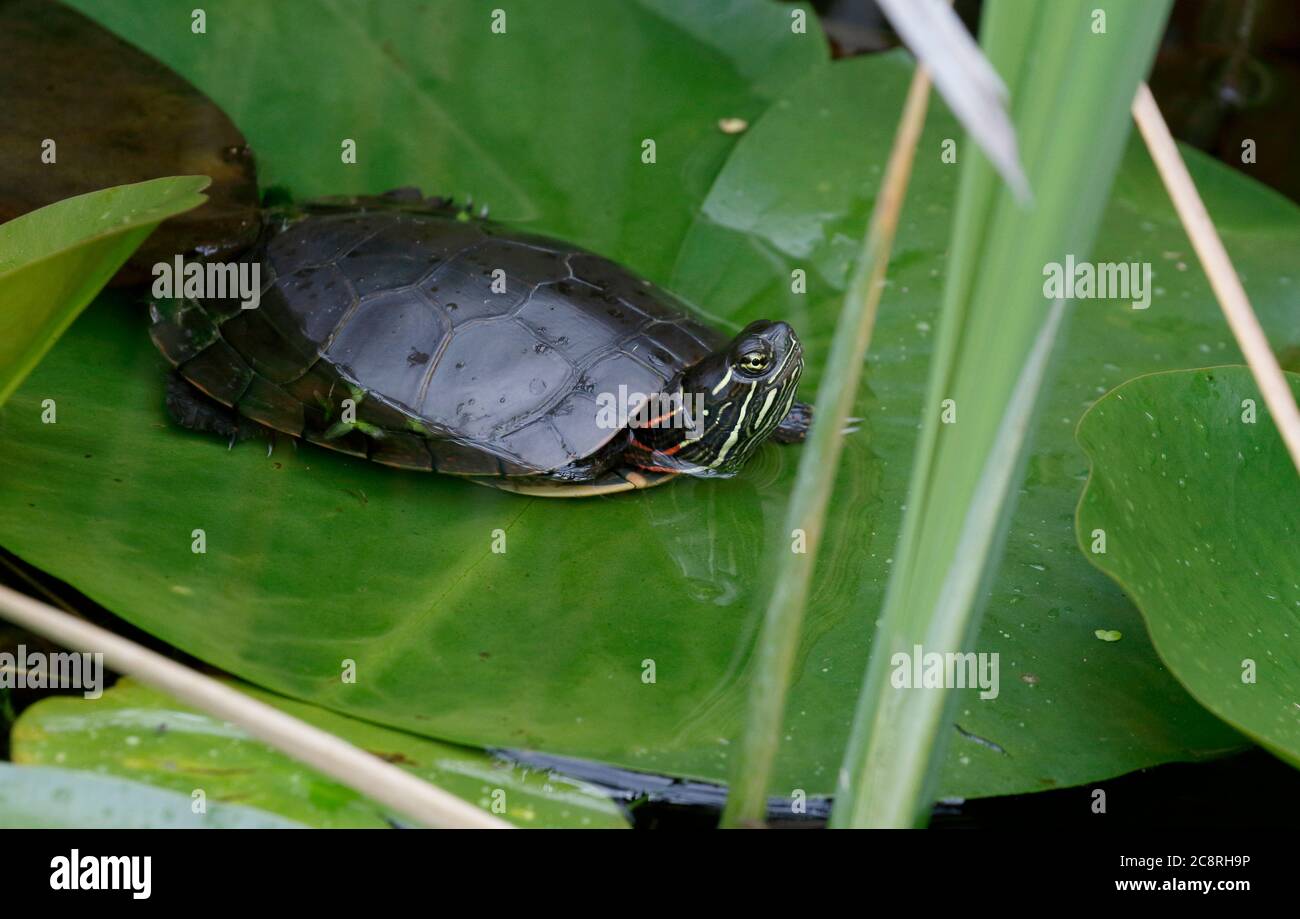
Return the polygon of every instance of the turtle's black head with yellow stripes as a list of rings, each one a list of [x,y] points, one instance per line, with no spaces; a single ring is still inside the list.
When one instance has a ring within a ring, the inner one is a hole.
[[[690,474],[732,474],[794,403],[803,348],[785,322],[750,322],[681,376],[693,416],[673,456]]]

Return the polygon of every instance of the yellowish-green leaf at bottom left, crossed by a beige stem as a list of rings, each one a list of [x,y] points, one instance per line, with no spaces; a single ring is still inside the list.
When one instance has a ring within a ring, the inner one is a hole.
[[[625,827],[604,794],[562,776],[511,766],[485,753],[263,693],[260,702],[329,731],[520,827]],[[105,772],[208,801],[240,802],[309,827],[389,827],[381,805],[339,785],[235,725],[194,711],[134,680],[99,699],[58,695],[27,708],[12,736],[16,763]],[[400,819],[400,818],[398,818]]]

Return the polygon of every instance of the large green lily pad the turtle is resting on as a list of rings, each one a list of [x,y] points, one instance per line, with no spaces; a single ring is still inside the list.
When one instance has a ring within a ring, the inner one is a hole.
[[[760,68],[728,56],[744,57],[744,43],[722,52],[659,17],[606,4],[547,4],[528,42],[495,49],[476,44],[485,26],[472,6],[441,12],[438,29],[417,36],[400,13],[382,19],[389,4],[364,13],[329,5],[318,27],[299,4],[250,4],[222,16],[220,30],[209,9],[209,34],[195,42],[187,29],[160,29],[146,14],[156,4],[83,5],[217,96],[252,139],[264,175],[295,191],[471,187],[498,213],[506,186],[491,187],[486,174],[467,186],[488,165],[417,156],[463,152],[474,139],[477,156],[504,164],[511,195],[537,208],[538,226],[630,261],[728,324],[790,321],[810,360],[803,398],[820,377],[911,75],[897,55],[819,64],[823,36],[790,35],[786,9],[775,5],[737,6],[744,16],[732,26],[753,29],[757,42],[779,25],[783,55],[810,61],[766,112],[737,77]],[[177,22],[188,22],[188,9]],[[266,17],[296,25],[268,29]],[[601,40],[575,38],[595,27]],[[482,79],[462,40],[491,55],[508,47],[514,57],[494,57],[503,69]],[[376,52],[421,42],[452,58]],[[354,69],[355,53],[365,68]],[[629,75],[633,64],[655,74],[653,84]],[[581,104],[567,88],[540,87],[540,71],[556,86],[581,81]],[[365,107],[384,109],[389,94],[404,100],[403,117],[374,125],[360,162],[341,166],[338,138],[355,130],[348,123],[369,125]],[[464,136],[447,130],[452,107],[469,125]],[[698,146],[660,142],[658,165],[645,172],[642,113],[659,127],[679,118],[675,130]],[[716,140],[725,114],[750,118],[738,140]],[[325,129],[311,123],[317,118]],[[298,143],[296,130],[324,139]],[[845,443],[774,792],[831,792],[844,751],[920,416],[956,190],[939,151],[956,136],[956,122],[932,110],[857,404],[866,420]],[[1212,213],[1234,214],[1225,242],[1265,329],[1300,341],[1288,283],[1300,212],[1188,156]],[[1251,208],[1236,209],[1238,199]],[[512,208],[512,217],[529,213]],[[1138,611],[1074,542],[1087,471],[1072,439],[1082,411],[1109,386],[1186,367],[1202,348],[1235,356],[1140,151],[1121,172],[1093,257],[1150,260],[1160,290],[1145,312],[1092,302],[1075,316],[980,638],[1002,655],[1001,697],[976,703],[971,693],[956,719],[1006,753],[956,738],[945,794],[1069,785],[1242,744],[1167,675]],[[790,290],[796,268],[807,272],[805,295]],[[113,294],[86,312],[0,413],[0,545],[244,680],[356,718],[473,745],[727,777],[768,552],[789,546],[781,524],[797,448],[767,448],[731,481],[533,500],[309,446],[282,442],[270,458],[252,443],[228,451],[168,421],[164,369],[139,304]],[[58,398],[57,425],[39,421],[47,396]],[[190,550],[199,526],[205,555]],[[491,551],[498,528],[506,554]],[[1101,645],[1097,619],[1124,640]],[[358,682],[341,685],[348,658]],[[642,681],[647,659],[653,684]]]

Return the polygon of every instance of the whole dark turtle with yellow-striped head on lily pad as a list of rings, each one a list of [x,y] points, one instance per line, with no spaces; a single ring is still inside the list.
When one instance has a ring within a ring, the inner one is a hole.
[[[415,188],[268,207],[261,224],[234,260],[260,273],[251,308],[150,302],[186,428],[542,497],[731,476],[763,441],[807,434],[786,322],[728,337],[608,259]]]

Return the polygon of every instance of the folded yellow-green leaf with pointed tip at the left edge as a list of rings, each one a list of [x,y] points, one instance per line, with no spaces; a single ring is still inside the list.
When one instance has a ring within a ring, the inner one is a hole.
[[[121,185],[0,225],[0,406],[153,227],[203,204],[207,185]]]

